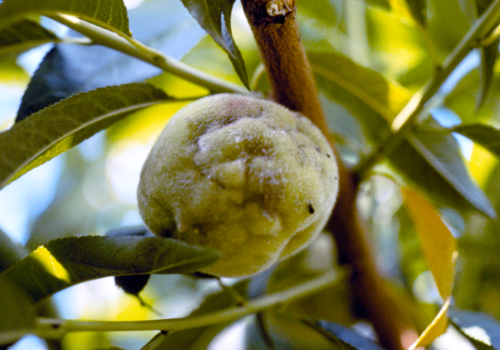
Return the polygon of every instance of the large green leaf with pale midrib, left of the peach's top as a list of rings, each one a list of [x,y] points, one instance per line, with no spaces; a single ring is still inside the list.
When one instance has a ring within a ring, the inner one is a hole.
[[[0,133],[0,188],[123,119],[169,98],[151,84],[127,84],[69,97]]]

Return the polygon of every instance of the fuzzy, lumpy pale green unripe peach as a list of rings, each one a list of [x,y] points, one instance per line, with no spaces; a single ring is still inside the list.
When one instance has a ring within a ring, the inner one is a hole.
[[[241,277],[305,248],[337,191],[332,149],[308,119],[221,94],[171,118],[144,164],[138,200],[156,235],[223,253],[201,272]]]

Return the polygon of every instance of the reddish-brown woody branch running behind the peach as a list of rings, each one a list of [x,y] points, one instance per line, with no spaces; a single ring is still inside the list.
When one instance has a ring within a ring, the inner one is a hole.
[[[242,3],[269,76],[271,98],[306,115],[336,149],[300,38],[295,0],[242,0]],[[340,191],[328,227],[337,242],[340,263],[351,267],[352,289],[380,343],[387,349],[400,350],[403,349],[401,320],[377,271],[368,229],[356,206],[359,181],[336,153]]]

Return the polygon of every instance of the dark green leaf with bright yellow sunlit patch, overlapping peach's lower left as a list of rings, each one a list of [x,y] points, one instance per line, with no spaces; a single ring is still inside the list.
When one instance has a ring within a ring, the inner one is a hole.
[[[38,247],[1,276],[34,301],[101,277],[191,273],[220,257],[213,249],[161,237],[69,237]]]

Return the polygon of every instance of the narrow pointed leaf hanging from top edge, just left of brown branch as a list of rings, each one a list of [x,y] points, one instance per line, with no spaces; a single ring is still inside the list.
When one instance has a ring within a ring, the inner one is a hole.
[[[227,52],[243,84],[250,88],[245,62],[231,32],[231,12],[235,0],[182,0],[189,13]]]

